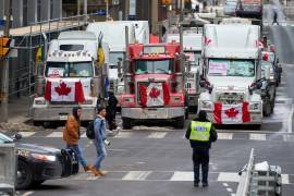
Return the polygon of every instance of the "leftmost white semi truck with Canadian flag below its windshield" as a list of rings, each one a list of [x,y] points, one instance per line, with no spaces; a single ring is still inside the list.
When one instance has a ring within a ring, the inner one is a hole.
[[[108,45],[102,44],[105,64],[109,62]],[[35,125],[65,121],[75,106],[83,108],[82,121],[95,117],[102,98],[107,65],[98,69],[98,39],[94,33],[60,33],[49,45],[42,73],[37,76],[33,102]]]

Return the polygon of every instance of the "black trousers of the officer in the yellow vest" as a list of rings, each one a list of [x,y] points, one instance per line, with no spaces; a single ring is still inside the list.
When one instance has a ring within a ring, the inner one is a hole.
[[[209,170],[209,148],[194,147],[193,148],[193,164],[194,164],[194,182],[199,183],[199,170],[201,167],[203,183],[208,183]]]

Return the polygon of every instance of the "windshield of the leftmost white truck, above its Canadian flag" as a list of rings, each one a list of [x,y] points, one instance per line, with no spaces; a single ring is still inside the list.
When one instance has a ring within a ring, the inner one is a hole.
[[[47,62],[47,77],[91,77],[91,62]]]

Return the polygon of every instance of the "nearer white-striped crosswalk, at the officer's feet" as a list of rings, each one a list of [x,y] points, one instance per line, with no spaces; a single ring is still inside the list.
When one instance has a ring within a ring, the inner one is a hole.
[[[94,176],[91,173],[79,172],[70,176],[76,181],[95,181],[99,179],[108,181],[193,181],[193,171],[107,171],[105,177]],[[238,183],[237,172],[209,172],[209,182]],[[294,184],[294,174],[282,174],[282,184]]]

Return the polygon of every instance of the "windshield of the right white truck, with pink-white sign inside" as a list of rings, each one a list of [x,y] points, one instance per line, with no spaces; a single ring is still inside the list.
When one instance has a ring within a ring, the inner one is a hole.
[[[253,77],[255,76],[254,60],[210,59],[208,74],[218,76]]]

